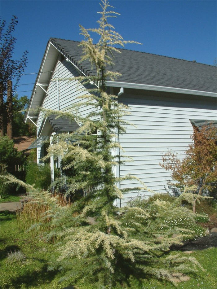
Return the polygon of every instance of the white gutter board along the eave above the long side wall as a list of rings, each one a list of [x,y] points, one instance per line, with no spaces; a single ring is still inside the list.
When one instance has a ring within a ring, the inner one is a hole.
[[[158,86],[158,85],[139,84],[139,83],[129,83],[129,82],[106,81],[106,86],[217,97],[217,93],[215,92],[191,90],[191,89],[167,87],[167,86]]]

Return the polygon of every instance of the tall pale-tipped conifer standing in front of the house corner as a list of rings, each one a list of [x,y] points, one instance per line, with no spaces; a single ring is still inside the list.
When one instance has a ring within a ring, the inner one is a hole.
[[[67,193],[76,196],[81,192],[83,197],[69,209],[76,217],[70,218],[70,223],[66,221],[65,228],[60,230],[60,257],[49,269],[65,269],[68,271],[66,278],[72,282],[82,278],[88,282],[98,282],[99,287],[113,287],[115,281],[126,278],[129,273],[136,274],[136,271],[140,276],[151,274],[170,279],[173,272],[189,268],[194,270],[197,265],[193,259],[178,256],[161,258],[171,245],[180,244],[184,236],[189,237],[192,232],[183,228],[179,235],[172,237],[171,231],[168,233],[168,230],[160,229],[159,223],[155,223],[154,218],[142,208],[126,208],[119,216],[120,212],[113,205],[117,198],[122,197],[123,191],[117,186],[118,182],[135,179],[131,175],[116,177],[113,173],[113,166],[124,162],[119,155],[122,148],[116,139],[118,133],[125,132],[126,123],[122,116],[126,114],[127,107],[118,101],[116,95],[109,94],[106,88],[106,80],[113,80],[118,75],[108,70],[113,65],[114,53],[120,53],[114,46],[124,46],[128,41],[124,41],[108,23],[108,18],[116,17],[117,13],[108,10],[111,6],[106,0],[101,1],[100,5],[99,28],[85,29],[80,26],[81,34],[85,37],[80,44],[84,54],[82,60],[88,59],[96,71],[94,76],[88,78],[77,77],[89,95],[78,98],[80,101],[73,107],[74,113],[77,110],[74,116],[55,112],[57,117],[65,115],[74,118],[80,127],[70,135],[59,135],[58,142],[49,148],[47,157],[64,155],[63,170],[68,172]],[[93,44],[90,33],[99,35],[97,44]],[[88,86],[90,81],[97,88]],[[79,108],[84,106],[92,108],[92,112],[85,117],[78,114]],[[96,132],[97,136],[93,136]],[[55,183],[58,184],[61,186],[61,179]],[[130,190],[124,189],[125,192]],[[158,204],[156,201],[156,205],[161,207],[159,214],[163,214],[168,204]],[[136,220],[135,227],[125,223],[129,216]],[[60,215],[57,217],[60,220]],[[175,231],[180,232],[179,229]],[[161,235],[162,239],[157,239],[157,235]]]

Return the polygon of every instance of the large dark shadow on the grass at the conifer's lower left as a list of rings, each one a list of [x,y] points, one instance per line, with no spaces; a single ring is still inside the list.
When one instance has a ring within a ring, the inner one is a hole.
[[[21,288],[24,284],[27,285],[27,287],[31,285],[31,287],[42,288],[40,285],[43,286],[44,282],[50,283],[57,273],[59,273],[58,270],[48,272],[47,264],[44,264],[40,270],[34,270],[32,272],[29,272],[28,270],[25,274],[20,275],[19,277],[11,278],[10,287],[6,288]]]

